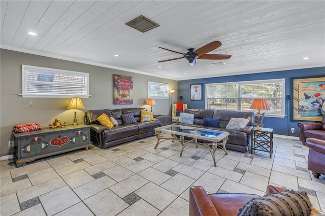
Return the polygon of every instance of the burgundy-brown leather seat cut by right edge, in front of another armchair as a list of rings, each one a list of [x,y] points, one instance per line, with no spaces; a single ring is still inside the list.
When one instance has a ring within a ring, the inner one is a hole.
[[[319,178],[320,174],[325,175],[325,140],[308,138],[306,147],[309,148],[308,169],[315,178]]]

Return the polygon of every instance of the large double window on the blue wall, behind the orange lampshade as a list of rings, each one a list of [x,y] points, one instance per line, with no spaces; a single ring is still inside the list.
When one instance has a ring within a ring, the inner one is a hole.
[[[266,116],[284,116],[284,79],[206,84],[206,109],[253,111],[254,98],[266,98]],[[257,112],[256,110],[254,112]]]

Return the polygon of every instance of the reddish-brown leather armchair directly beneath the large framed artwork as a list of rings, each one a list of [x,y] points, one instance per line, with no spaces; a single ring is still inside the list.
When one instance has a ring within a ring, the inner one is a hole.
[[[321,123],[299,122],[298,127],[300,127],[299,139],[304,146],[309,137],[325,140],[325,116],[323,116]]]

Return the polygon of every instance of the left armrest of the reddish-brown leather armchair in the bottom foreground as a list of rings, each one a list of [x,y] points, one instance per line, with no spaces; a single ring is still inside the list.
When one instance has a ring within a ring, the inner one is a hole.
[[[218,215],[210,197],[202,186],[189,188],[189,215]]]

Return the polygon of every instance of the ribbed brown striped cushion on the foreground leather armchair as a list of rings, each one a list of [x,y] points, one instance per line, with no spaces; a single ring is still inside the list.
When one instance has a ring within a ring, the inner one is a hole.
[[[253,198],[237,213],[242,215],[310,215],[311,203],[305,191],[283,191]]]

